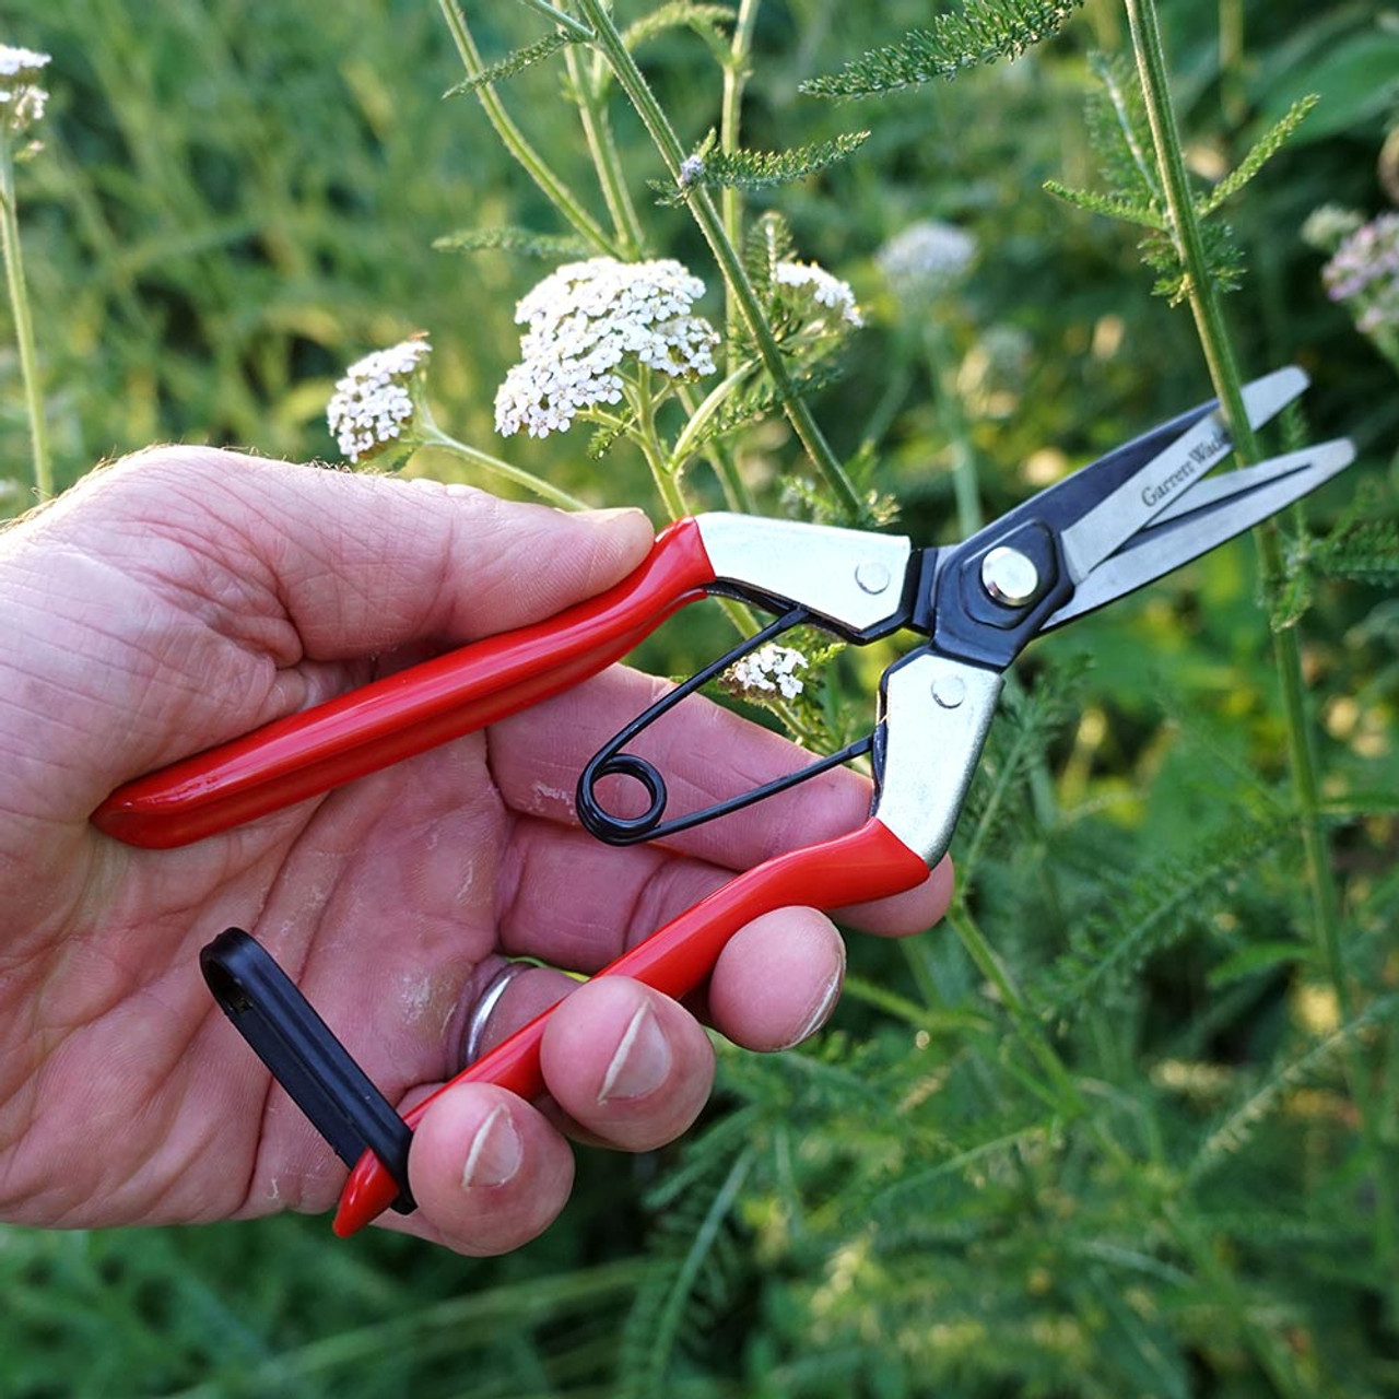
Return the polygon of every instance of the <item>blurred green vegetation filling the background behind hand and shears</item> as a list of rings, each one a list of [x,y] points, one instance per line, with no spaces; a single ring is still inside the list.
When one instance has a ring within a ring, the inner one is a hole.
[[[1265,596],[1241,541],[1038,646],[954,849],[950,926],[907,949],[852,939],[831,1030],[781,1058],[723,1052],[701,1128],[656,1157],[585,1156],[536,1245],[466,1260],[336,1244],[298,1219],[0,1228],[0,1392],[1399,1392],[1399,393],[1300,232],[1323,204],[1391,207],[1399,28],[1367,3],[1164,10],[1200,187],[1297,98],[1322,99],[1224,211],[1247,269],[1226,302],[1245,372],[1305,365],[1291,434],[1349,432],[1361,452],[1284,523],[1284,576]],[[548,31],[506,0],[467,13],[488,59]],[[1210,383],[1189,315],[1151,295],[1139,234],[1044,190],[1111,187],[1084,106],[1101,94],[1090,56],[1129,57],[1116,0],[951,84],[851,104],[800,91],[928,20],[914,0],[767,0],[744,144],[872,132],[750,213],[779,210],[800,256],[855,287],[867,326],[811,410],[898,527],[939,540],[958,534],[958,477],[990,515]],[[568,229],[476,99],[442,99],[463,74],[438,7],[11,0],[0,42],[53,55],[45,150],[18,190],[60,484],[162,439],[330,456],[343,367],[421,329],[457,438],[662,516],[625,443],[593,460],[581,429],[494,438],[513,305],[551,263],[432,242]],[[709,43],[681,27],[642,60],[698,144],[718,120]],[[592,200],[562,74],[554,57],[498,92]],[[687,211],[652,204],[651,141],[616,92],[611,111],[652,252],[704,276],[722,319]],[[876,255],[926,218],[978,253],[918,311]],[[18,511],[28,428],[8,346],[0,488]],[[781,414],[732,450],[761,508],[810,508]],[[466,470],[432,453],[413,469]],[[686,484],[691,505],[720,504],[706,471]],[[1309,811],[1288,778],[1273,620],[1294,625],[1308,684]],[[644,659],[680,670],[723,635],[673,628]],[[844,666],[828,694],[859,725],[870,672]]]

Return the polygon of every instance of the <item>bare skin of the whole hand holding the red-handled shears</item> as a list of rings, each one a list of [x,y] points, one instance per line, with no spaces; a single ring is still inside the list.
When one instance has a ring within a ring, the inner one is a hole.
[[[592,972],[708,890],[856,825],[837,772],[690,832],[599,845],[583,761],[656,691],[616,667],[558,700],[277,816],[141,851],[88,816],[120,783],[446,648],[544,618],[645,555],[639,512],[565,515],[435,483],[166,448],[90,476],[0,534],[0,1217],[168,1224],[327,1210],[344,1168],[211,1002],[199,949],[238,925],[297,979],[390,1101],[460,1067],[508,956]],[[541,567],[547,561],[547,567]],[[658,726],[676,809],[802,754],[705,701]],[[849,912],[886,935],[946,908],[918,890]],[[485,1084],[434,1104],[418,1213],[383,1223],[467,1254],[562,1209],[568,1137],[645,1151],[694,1121],[701,1018],[754,1049],[816,1030],[844,950],[810,909],[740,932],[683,1007],[621,978],[516,978],[487,1045],[550,1021],[550,1101]]]

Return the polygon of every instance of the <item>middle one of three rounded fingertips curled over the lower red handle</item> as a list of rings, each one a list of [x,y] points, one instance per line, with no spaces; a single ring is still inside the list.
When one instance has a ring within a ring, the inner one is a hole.
[[[713,1049],[698,1021],[625,977],[585,982],[554,1009],[540,1065],[558,1107],[624,1151],[674,1140],[713,1084]]]

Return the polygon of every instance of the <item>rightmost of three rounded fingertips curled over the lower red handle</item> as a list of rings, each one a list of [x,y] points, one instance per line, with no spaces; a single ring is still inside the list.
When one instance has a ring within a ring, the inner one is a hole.
[[[709,978],[709,1020],[746,1049],[789,1049],[825,1024],[841,995],[845,944],[811,908],[783,908],[740,929]]]

